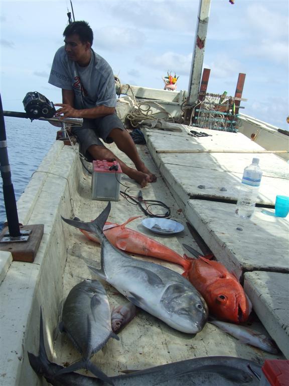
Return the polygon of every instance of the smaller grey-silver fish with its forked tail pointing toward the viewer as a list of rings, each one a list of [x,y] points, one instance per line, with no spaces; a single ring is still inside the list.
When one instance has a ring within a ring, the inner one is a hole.
[[[64,368],[62,373],[86,368],[108,382],[108,377],[90,361],[109,338],[119,340],[111,329],[108,299],[98,280],[85,279],[71,289],[63,305],[59,328],[82,354],[80,361]]]

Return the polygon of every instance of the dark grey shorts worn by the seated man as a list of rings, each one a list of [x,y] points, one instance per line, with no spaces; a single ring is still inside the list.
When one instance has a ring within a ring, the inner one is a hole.
[[[110,114],[96,119],[83,119],[83,125],[81,127],[74,126],[71,132],[77,137],[80,153],[83,154],[89,162],[92,162],[93,158],[87,152],[89,146],[103,146],[100,138],[105,143],[112,143],[113,140],[109,137],[109,134],[112,129],[116,128],[124,130],[123,124],[117,115]]]

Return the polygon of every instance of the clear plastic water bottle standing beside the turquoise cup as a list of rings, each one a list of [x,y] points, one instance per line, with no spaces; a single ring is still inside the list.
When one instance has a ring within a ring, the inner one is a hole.
[[[251,165],[245,167],[240,185],[235,214],[243,219],[249,219],[255,209],[262,170],[259,167],[259,158],[253,158]]]

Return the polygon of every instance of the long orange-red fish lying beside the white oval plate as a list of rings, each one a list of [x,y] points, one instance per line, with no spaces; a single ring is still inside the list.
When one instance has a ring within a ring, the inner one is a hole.
[[[158,243],[150,237],[125,227],[128,223],[139,217],[141,216],[130,217],[121,225],[106,222],[103,228],[103,233],[105,234],[107,240],[122,251],[156,257],[158,259],[180,264],[187,271],[191,265],[191,258],[187,256],[182,257],[177,252],[161,243]],[[82,229],[80,230],[88,239],[99,243],[99,240],[94,233],[87,232]]]

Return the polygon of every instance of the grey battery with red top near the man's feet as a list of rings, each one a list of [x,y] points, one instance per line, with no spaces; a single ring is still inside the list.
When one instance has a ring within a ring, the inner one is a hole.
[[[92,161],[92,200],[118,201],[122,170],[116,161]]]

